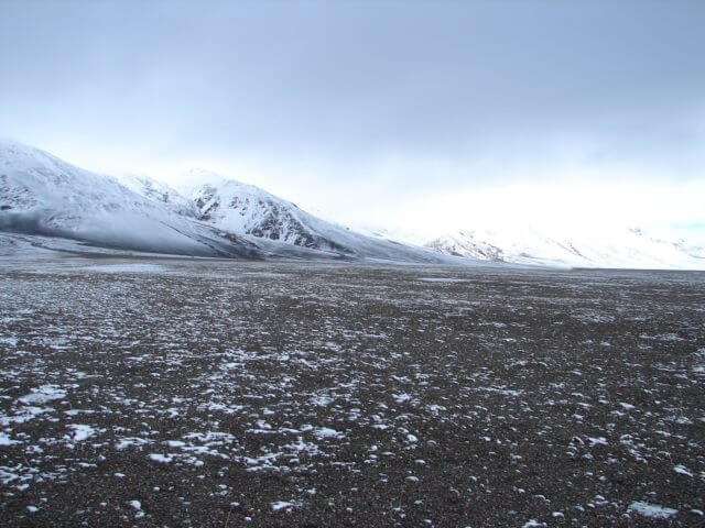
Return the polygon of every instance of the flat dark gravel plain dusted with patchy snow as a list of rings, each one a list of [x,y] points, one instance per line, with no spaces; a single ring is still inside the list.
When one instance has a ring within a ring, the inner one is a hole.
[[[705,273],[0,263],[0,524],[705,526]]]

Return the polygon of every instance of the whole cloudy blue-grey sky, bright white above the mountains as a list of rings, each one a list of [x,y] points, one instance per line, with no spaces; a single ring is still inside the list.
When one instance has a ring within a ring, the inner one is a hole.
[[[705,2],[0,0],[0,135],[356,226],[705,240]]]

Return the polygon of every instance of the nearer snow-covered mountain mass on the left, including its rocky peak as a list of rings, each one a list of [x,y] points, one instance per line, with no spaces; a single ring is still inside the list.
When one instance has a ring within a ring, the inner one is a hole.
[[[319,220],[257,187],[209,176],[184,197],[144,177],[118,179],[0,142],[0,231],[100,248],[227,257],[458,261]]]

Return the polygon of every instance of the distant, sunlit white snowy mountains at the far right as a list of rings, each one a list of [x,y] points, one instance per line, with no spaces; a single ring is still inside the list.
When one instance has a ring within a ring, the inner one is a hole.
[[[647,270],[705,270],[705,249],[639,229],[599,233],[561,233],[514,227],[510,230],[458,230],[425,242],[441,253],[517,264]]]

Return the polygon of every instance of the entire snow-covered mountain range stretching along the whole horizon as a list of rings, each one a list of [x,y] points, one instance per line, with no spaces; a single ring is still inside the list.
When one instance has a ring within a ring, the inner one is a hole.
[[[705,249],[640,229],[599,237],[527,227],[433,234],[352,230],[259,187],[207,170],[174,189],[149,176],[90,173],[41,150],[0,142],[0,252],[75,241],[98,248],[234,258],[333,258],[476,265],[705,270]],[[41,239],[40,239],[41,238]]]

